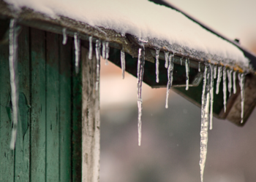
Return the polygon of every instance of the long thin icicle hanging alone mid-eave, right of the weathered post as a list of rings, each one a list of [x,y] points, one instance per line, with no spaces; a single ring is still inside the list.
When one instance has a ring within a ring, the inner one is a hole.
[[[141,86],[143,82],[145,64],[145,49],[144,46],[139,49],[138,53],[138,68],[137,68],[137,93],[138,93],[138,145],[141,143],[141,111],[142,111],[142,98],[141,98]]]

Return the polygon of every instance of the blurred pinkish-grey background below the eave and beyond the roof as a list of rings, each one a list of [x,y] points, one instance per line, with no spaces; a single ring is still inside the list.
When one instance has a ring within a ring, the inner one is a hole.
[[[165,0],[256,52],[255,0]],[[170,18],[171,20],[171,18]],[[200,108],[166,89],[143,84],[138,146],[137,79],[102,60],[101,182],[200,181]],[[244,127],[214,118],[208,133],[205,182],[256,181],[256,110]]]

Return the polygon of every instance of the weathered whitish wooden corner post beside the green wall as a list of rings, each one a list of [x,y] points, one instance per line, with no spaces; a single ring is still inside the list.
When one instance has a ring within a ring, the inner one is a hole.
[[[89,50],[82,47],[83,123],[82,181],[99,181],[99,90],[96,86],[96,55],[88,58]]]

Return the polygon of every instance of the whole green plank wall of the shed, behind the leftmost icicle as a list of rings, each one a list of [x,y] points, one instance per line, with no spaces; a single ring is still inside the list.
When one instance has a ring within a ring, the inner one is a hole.
[[[61,42],[61,35],[22,27],[14,151],[9,45],[0,45],[0,181],[80,181],[81,75],[73,68],[73,40]]]

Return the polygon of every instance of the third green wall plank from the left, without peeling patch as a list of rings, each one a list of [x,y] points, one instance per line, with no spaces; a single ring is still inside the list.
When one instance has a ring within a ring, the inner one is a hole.
[[[31,178],[45,181],[45,31],[31,28]]]

